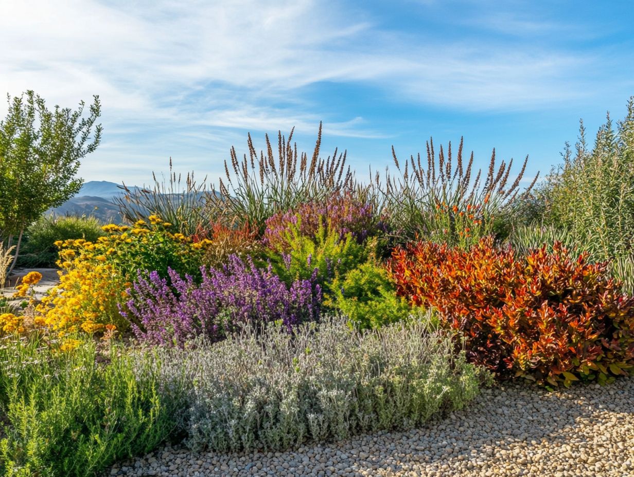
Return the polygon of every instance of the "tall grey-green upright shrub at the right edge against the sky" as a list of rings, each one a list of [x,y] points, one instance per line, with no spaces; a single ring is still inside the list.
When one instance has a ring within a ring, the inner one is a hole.
[[[573,156],[540,189],[543,223],[565,228],[593,257],[628,255],[634,247],[634,96],[614,129],[609,115],[592,149],[583,122]]]

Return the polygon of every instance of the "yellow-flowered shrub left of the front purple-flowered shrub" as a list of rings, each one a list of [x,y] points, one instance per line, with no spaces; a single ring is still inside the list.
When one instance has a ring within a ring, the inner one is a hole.
[[[179,274],[200,274],[207,242],[193,243],[172,233],[172,224],[156,215],[150,223],[139,220],[132,227],[103,226],[107,236],[95,242],[84,239],[57,241],[60,248],[60,284],[49,291],[37,307],[44,324],[55,331],[87,334],[107,331],[113,325],[126,329],[119,314],[138,270],[156,270],[167,277],[169,268]]]

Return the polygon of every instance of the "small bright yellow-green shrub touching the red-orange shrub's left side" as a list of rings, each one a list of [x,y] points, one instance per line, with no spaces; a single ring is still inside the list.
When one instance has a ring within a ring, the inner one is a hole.
[[[396,296],[396,285],[384,266],[373,260],[350,270],[332,284],[332,306],[360,328],[379,328],[406,319],[411,307]]]

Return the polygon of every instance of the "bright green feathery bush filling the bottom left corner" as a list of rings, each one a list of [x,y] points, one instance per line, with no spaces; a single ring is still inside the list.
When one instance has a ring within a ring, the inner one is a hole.
[[[0,346],[3,476],[93,476],[172,433],[174,410],[160,402],[156,379],[133,372],[147,360],[77,343],[66,353],[37,339]]]

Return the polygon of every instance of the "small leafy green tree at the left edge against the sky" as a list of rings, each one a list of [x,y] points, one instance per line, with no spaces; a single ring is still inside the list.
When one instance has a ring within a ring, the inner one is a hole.
[[[48,110],[30,90],[13,99],[7,95],[7,102],[8,114],[0,121],[0,238],[11,246],[17,237],[11,272],[25,228],[79,192],[79,160],[100,143],[101,124],[91,133],[101,104],[94,96],[84,117],[84,101],[76,111]]]

